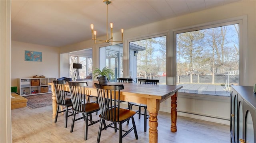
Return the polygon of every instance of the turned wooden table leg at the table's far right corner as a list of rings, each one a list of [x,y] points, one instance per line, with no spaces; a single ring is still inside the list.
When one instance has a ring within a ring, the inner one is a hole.
[[[177,131],[177,94],[178,92],[176,92],[176,94],[174,94],[171,99],[172,99],[172,103],[171,103],[171,131],[172,132],[176,132]]]

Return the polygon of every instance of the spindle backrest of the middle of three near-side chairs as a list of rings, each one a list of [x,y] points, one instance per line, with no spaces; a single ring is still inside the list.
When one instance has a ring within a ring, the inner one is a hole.
[[[76,112],[85,112],[86,96],[88,93],[87,82],[68,81],[70,94],[73,104],[73,110]]]

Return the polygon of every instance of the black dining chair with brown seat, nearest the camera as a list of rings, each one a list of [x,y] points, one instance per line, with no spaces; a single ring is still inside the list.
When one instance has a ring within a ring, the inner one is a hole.
[[[122,138],[125,137],[132,130],[134,130],[135,138],[138,139],[136,125],[133,118],[136,112],[120,108],[120,90],[124,89],[124,85],[106,85],[97,83],[94,83],[94,85],[97,88],[98,102],[100,104],[100,127],[98,131],[97,143],[100,143],[101,132],[108,127],[113,128],[115,132],[119,130],[119,143],[122,143]],[[114,100],[118,102],[108,102],[109,100]],[[122,129],[122,123],[130,118],[132,118],[133,126],[128,131],[125,131]],[[112,123],[106,125],[105,120]],[[117,123],[119,124],[119,128],[117,128]],[[106,126],[102,128],[102,124]],[[112,126],[113,124],[114,127]],[[125,132],[124,134],[122,134],[123,131]]]

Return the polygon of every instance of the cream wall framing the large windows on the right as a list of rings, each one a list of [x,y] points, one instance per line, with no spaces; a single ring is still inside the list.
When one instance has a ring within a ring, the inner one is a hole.
[[[152,35],[157,35],[161,33],[166,33],[166,31],[172,31],[173,29],[180,29],[182,27],[192,27],[194,25],[200,25],[205,23],[210,23],[214,21],[220,21],[225,19],[230,19],[239,16],[247,16],[248,18],[248,43],[242,43],[243,46],[240,48],[248,48],[248,53],[246,52],[246,57],[248,58],[247,63],[244,64],[248,67],[248,75],[241,75],[246,78],[246,81],[243,82],[242,85],[252,86],[256,83],[256,59],[254,58],[256,54],[256,1],[248,1],[243,0],[239,2],[234,2],[231,4],[227,4],[224,6],[219,6],[216,8],[195,12],[191,14],[187,14],[184,16],[178,16],[176,18],[171,18],[159,22],[154,22],[152,24],[146,24],[139,27],[134,27],[132,29],[125,29],[124,33],[124,77],[129,75],[129,56],[128,56],[128,41],[130,39],[142,38]],[[242,33],[240,33],[242,34]],[[114,36],[117,34],[114,34]],[[170,48],[170,45],[173,45],[173,35],[168,35],[170,39],[167,40],[167,48]],[[115,37],[114,37],[115,38]],[[76,43],[73,45],[67,45],[61,48],[62,52],[69,51],[72,49],[81,50],[84,47],[93,47],[93,66],[98,67],[98,48],[100,45],[94,45],[92,40],[83,41],[80,43]],[[170,48],[171,49],[171,48]],[[170,69],[173,73],[167,73],[167,83],[173,83],[175,79],[175,70],[173,70],[173,61],[174,61],[174,51],[167,49],[167,69]],[[96,62],[95,62],[96,61]],[[242,70],[242,69],[240,69]],[[250,78],[248,78],[250,77]],[[219,97],[219,98],[218,98]],[[178,115],[182,116],[192,116],[193,118],[205,119],[209,121],[216,121],[220,123],[229,123],[225,119],[229,119],[230,117],[230,100],[229,97],[222,98],[217,96],[217,98],[207,98],[205,96],[178,96]],[[170,99],[161,103],[160,110],[165,112],[170,112]],[[187,113],[190,114],[187,114]],[[199,115],[199,116],[198,116]],[[212,116],[213,118],[208,118],[208,116]],[[222,118],[224,120],[219,120],[218,118]]]

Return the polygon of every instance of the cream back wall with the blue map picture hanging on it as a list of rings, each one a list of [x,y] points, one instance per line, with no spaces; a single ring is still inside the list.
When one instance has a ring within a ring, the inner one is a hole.
[[[42,52],[42,62],[25,61],[25,50]],[[18,78],[34,75],[59,77],[60,53],[57,47],[31,43],[11,42],[11,86],[18,87]]]

